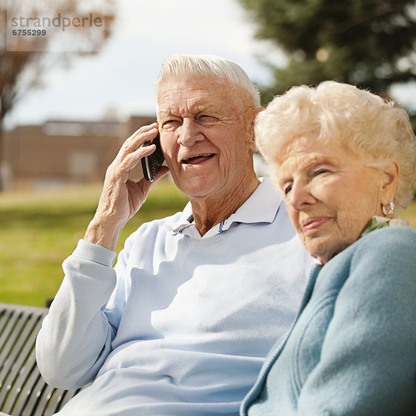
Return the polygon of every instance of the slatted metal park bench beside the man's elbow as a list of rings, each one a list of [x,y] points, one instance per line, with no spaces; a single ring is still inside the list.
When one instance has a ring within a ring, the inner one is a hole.
[[[52,388],[37,368],[35,340],[46,313],[0,303],[0,415],[53,415],[79,391]]]

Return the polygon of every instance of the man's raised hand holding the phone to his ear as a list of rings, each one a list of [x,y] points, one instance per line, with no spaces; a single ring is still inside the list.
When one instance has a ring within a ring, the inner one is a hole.
[[[155,153],[156,146],[151,144],[151,141],[158,137],[157,128],[157,123],[139,128],[123,143],[116,158],[107,168],[96,214],[85,233],[86,241],[114,250],[125,223],[143,205],[153,184],[168,173],[166,166],[159,166],[157,172],[155,168],[149,171],[149,179],[152,179],[152,182],[145,178],[137,182],[130,180],[132,168],[135,168],[144,157],[149,158]],[[161,155],[163,157],[159,148],[158,161]],[[151,166],[149,162],[148,166]]]

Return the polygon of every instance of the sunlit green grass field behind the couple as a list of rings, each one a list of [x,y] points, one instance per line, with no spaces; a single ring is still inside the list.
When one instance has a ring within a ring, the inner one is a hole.
[[[101,184],[0,193],[0,302],[44,306],[62,280],[62,261],[83,238]],[[170,180],[155,185],[123,229],[116,252],[141,223],[180,211],[187,198]],[[416,228],[416,202],[402,217]]]

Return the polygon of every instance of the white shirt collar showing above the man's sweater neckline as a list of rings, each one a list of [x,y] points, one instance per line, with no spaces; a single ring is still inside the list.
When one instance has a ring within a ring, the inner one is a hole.
[[[166,224],[165,227],[173,234],[186,234],[193,239],[206,239],[239,223],[272,223],[283,198],[275,191],[270,177],[262,177],[260,181],[252,195],[234,214],[214,225],[203,236],[200,235],[193,221],[191,202],[188,202],[184,208],[184,215],[179,222]]]

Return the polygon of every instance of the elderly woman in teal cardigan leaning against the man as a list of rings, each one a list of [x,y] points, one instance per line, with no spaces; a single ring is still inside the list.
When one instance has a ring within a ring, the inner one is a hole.
[[[294,87],[257,116],[259,149],[317,260],[291,331],[241,415],[416,415],[416,139],[351,85]]]

